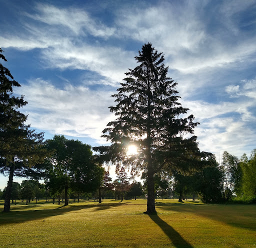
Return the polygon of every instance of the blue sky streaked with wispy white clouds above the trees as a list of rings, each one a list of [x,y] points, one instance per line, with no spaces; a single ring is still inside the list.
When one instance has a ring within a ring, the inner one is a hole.
[[[256,148],[256,0],[9,0],[0,30],[1,63],[45,138],[104,144],[110,95],[151,42],[200,122],[199,148],[217,158]],[[1,175],[0,188],[6,181]]]

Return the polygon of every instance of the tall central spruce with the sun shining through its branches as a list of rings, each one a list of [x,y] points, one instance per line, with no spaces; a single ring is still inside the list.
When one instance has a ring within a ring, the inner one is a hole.
[[[94,150],[100,152],[102,160],[117,167],[126,164],[131,172],[146,172],[145,213],[154,213],[153,175],[161,169],[198,166],[199,158],[206,153],[199,151],[196,136],[184,138],[198,123],[193,122],[193,115],[183,117],[188,109],[178,102],[177,83],[167,76],[163,54],[151,43],[144,44],[138,53],[138,65],[125,73],[118,93],[112,95],[117,104],[109,108],[117,118],[107,124],[102,135],[112,144]],[[131,144],[136,145],[137,153],[128,155]]]

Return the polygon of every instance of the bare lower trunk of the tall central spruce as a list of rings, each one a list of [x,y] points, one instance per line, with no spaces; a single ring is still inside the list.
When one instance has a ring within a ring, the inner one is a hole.
[[[147,214],[156,213],[154,204],[154,177],[150,168],[147,170]]]

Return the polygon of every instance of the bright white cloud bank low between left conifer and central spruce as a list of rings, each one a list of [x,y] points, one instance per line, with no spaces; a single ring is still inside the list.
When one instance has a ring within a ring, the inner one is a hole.
[[[28,104],[23,107],[34,128],[75,137],[91,137],[97,142],[106,124],[114,119],[107,106],[113,104],[111,91],[92,91],[84,86],[66,84],[64,89],[36,78],[22,86]]]

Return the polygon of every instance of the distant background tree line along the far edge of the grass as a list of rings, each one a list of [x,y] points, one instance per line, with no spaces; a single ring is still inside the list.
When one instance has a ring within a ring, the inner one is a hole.
[[[173,172],[172,174],[162,173],[154,175],[154,198],[177,198],[182,202],[185,198],[199,198],[205,203],[256,203],[256,183],[253,173],[256,169],[256,149],[253,149],[250,157],[243,154],[241,159],[224,151],[222,163],[216,160],[212,166],[205,167],[192,174],[182,174]],[[112,180],[109,172],[104,170],[99,186],[93,188],[86,187],[86,190],[77,190],[76,187],[69,187],[65,195],[64,187],[61,189],[59,181],[54,179],[50,182],[50,177],[45,177],[44,183],[30,179],[23,180],[21,184],[12,183],[11,201],[16,199],[25,200],[26,204],[30,200],[45,198],[47,201],[52,198],[64,203],[67,199],[94,199],[101,203],[101,199],[136,199],[136,197],[146,197],[147,182],[142,174],[142,183],[130,178],[122,166],[116,174],[117,178]],[[71,180],[71,177],[69,178]],[[0,191],[0,198],[5,197],[6,187]]]

